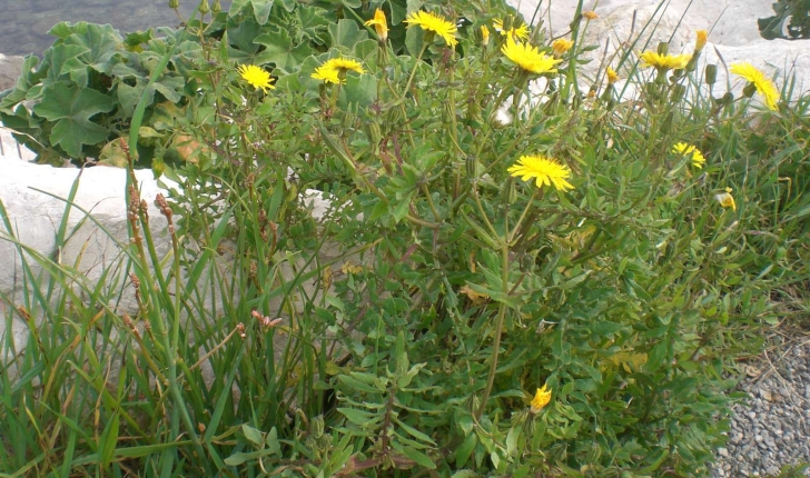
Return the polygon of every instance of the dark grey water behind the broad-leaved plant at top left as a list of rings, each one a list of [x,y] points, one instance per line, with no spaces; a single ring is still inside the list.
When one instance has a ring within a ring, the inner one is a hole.
[[[227,9],[230,1],[221,3]],[[182,18],[197,4],[199,0],[180,0]],[[60,21],[110,23],[121,36],[151,27],[177,27],[180,19],[168,6],[168,0],[0,0],[0,53],[41,57],[53,42],[48,30]]]

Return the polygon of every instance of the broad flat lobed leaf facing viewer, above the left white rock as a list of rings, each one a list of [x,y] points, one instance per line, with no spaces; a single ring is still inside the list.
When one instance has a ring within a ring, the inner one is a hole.
[[[50,141],[59,145],[71,158],[83,158],[82,145],[96,145],[110,131],[90,118],[113,108],[110,97],[96,90],[57,83],[46,90],[42,101],[33,107],[37,116],[56,122]]]

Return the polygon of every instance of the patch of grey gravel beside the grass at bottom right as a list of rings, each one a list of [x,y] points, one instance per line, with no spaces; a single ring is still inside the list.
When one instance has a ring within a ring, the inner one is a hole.
[[[810,340],[767,358],[761,372],[754,369],[738,386],[750,398],[733,408],[712,478],[779,476],[786,465],[810,462]],[[784,476],[810,477],[810,469]]]

